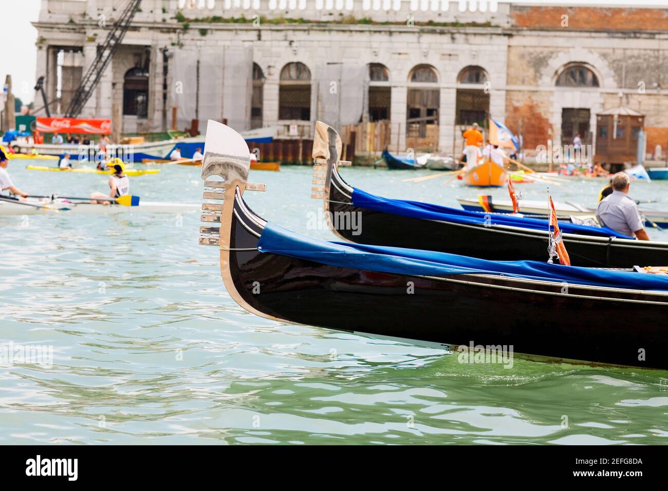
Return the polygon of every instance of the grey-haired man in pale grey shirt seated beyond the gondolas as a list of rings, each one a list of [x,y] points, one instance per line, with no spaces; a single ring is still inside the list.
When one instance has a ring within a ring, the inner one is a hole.
[[[629,197],[631,179],[626,172],[617,172],[612,180],[613,192],[599,203],[596,217],[599,223],[615,232],[640,240],[649,240],[638,205]]]

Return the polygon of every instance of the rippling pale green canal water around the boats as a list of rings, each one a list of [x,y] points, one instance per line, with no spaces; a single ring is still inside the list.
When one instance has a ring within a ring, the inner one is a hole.
[[[106,190],[105,176],[26,163],[9,170],[33,194]],[[370,192],[449,206],[476,194],[444,178],[402,182],[420,172],[343,175]],[[267,192],[246,198],[269,220],[331,239],[308,227],[320,206],[309,198],[310,176],[307,167],[251,172]],[[550,187],[558,200],[593,204],[603,182]],[[201,202],[197,168],[164,166],[131,183],[144,200]],[[516,188],[545,197],[543,184]],[[643,199],[667,192],[662,182],[631,188]],[[666,372],[522,359],[510,369],[466,365],[445,347],[261,319],[227,295],[216,248],[198,245],[199,226],[198,212],[0,217],[0,344],[53,347],[51,364],[0,363],[0,443],[668,442]]]

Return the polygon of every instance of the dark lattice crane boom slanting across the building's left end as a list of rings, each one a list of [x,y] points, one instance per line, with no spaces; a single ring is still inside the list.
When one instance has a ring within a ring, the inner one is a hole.
[[[76,118],[79,116],[79,113],[83,110],[83,106],[88,99],[90,99],[96,86],[98,86],[98,82],[102,77],[102,73],[104,73],[104,69],[109,65],[116,48],[118,48],[126,31],[128,31],[130,22],[132,22],[132,18],[137,12],[141,1],[142,0],[130,0],[128,2],[127,7],[112,26],[112,30],[107,35],[104,44],[98,46],[98,55],[90,67],[88,67],[88,70],[83,77],[81,77],[81,84],[77,87],[77,90],[69,103],[69,107],[65,112],[67,118]]]

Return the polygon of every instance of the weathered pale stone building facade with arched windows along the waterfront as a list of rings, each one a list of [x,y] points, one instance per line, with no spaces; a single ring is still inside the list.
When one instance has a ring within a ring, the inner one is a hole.
[[[473,5],[476,8],[472,8]],[[37,76],[77,86],[118,0],[42,0]],[[463,7],[463,9],[462,9]],[[596,114],[646,115],[648,151],[668,144],[668,9],[536,7],[448,0],[142,0],[83,116],[122,132],[226,119],[311,136],[389,120],[391,145],[458,151],[492,117],[527,149],[595,142]],[[297,132],[295,132],[297,128]]]

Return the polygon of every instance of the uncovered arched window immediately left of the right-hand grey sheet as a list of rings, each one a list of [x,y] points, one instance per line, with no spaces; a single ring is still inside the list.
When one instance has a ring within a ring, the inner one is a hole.
[[[288,63],[281,70],[279,120],[311,120],[311,70],[304,63]]]

